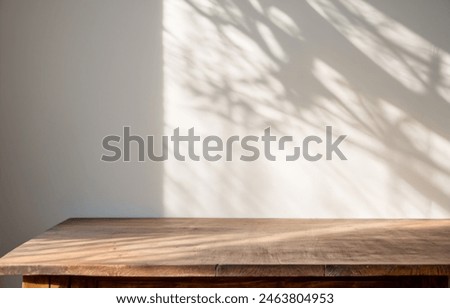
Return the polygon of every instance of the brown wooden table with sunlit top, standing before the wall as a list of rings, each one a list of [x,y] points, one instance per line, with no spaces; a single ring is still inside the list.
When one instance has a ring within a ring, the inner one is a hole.
[[[448,287],[450,220],[69,219],[0,259],[24,287]]]

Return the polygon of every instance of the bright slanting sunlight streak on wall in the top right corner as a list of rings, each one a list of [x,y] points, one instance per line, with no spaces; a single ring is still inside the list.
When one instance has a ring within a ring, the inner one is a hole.
[[[362,0],[308,0],[308,3],[381,69],[416,93],[427,91],[433,73],[433,57],[445,59],[448,56]]]

